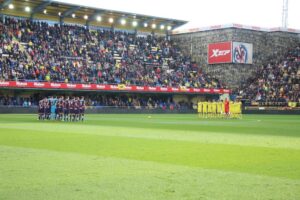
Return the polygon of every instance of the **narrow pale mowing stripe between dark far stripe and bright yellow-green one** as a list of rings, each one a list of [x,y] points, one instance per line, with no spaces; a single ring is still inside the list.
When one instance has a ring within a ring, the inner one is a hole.
[[[76,125],[76,129],[70,129],[69,124],[56,123],[31,123],[22,124],[10,123],[1,125],[2,131],[41,131],[73,134],[94,134],[104,136],[120,136],[133,138],[149,138],[158,140],[179,140],[193,141],[199,143],[214,144],[236,144],[243,146],[260,146],[271,148],[288,148],[300,149],[300,137],[274,136],[274,135],[257,135],[257,134],[232,134],[227,132],[208,132],[208,131],[189,131],[189,130],[172,130],[163,131],[159,129],[122,127],[114,128],[111,125]],[[5,130],[4,130],[5,129]]]

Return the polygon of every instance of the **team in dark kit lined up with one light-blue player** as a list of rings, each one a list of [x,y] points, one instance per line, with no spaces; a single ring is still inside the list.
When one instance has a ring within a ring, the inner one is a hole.
[[[49,97],[39,101],[38,119],[57,121],[83,121],[84,97]]]

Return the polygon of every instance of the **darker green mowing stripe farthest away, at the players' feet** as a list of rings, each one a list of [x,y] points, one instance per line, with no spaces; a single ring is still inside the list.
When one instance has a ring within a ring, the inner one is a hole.
[[[300,116],[269,116],[269,115],[247,115],[242,120],[205,120],[198,119],[197,115],[87,115],[84,125],[101,125],[128,128],[151,128],[164,129],[168,131],[207,131],[250,135],[275,135],[300,137]],[[178,118],[176,118],[178,117]],[[0,123],[10,124],[32,123],[41,124],[36,120],[36,115],[0,115]],[[45,122],[46,123],[46,122]],[[60,124],[61,122],[47,122],[49,124]],[[80,126],[82,123],[72,123],[73,127]]]

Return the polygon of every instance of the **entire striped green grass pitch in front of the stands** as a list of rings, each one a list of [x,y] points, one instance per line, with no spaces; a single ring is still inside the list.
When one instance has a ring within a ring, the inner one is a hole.
[[[299,200],[300,116],[0,115],[1,200]]]

